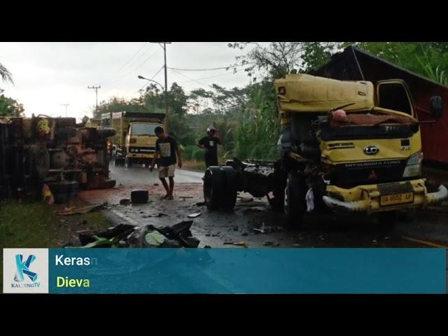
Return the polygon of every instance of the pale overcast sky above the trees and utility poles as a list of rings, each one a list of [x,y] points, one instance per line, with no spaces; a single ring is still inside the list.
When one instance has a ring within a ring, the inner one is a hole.
[[[185,43],[167,45],[167,66],[180,69],[208,69],[229,66],[241,50],[228,43]],[[0,43],[0,63],[13,74],[14,85],[1,83],[3,94],[25,106],[25,113],[91,116],[95,92],[87,86],[101,85],[98,102],[116,95],[137,97],[145,85],[138,75],[152,78],[163,66],[158,43]],[[181,74],[180,74],[181,73]],[[212,77],[213,78],[209,78]],[[191,79],[195,79],[193,81]],[[164,71],[153,78],[164,85]],[[224,87],[243,86],[249,79],[244,71],[179,71],[168,69],[168,87],[179,83],[186,92],[216,83]],[[148,82],[146,82],[148,83]]]

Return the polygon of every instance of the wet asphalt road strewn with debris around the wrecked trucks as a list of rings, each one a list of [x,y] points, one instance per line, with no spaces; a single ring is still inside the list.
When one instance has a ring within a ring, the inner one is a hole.
[[[174,200],[159,200],[164,195],[158,172],[144,167],[114,167],[111,178],[117,187],[110,190],[90,190],[80,197],[90,203],[107,201],[107,216],[114,223],[134,225],[174,225],[188,220],[189,214],[201,213],[194,218],[192,232],[201,240],[200,247],[443,247],[448,246],[447,209],[416,211],[407,221],[399,221],[387,228],[374,217],[344,214],[307,215],[300,228],[282,228],[283,214],[269,209],[265,199],[252,202],[237,200],[230,213],[209,212],[202,202],[202,176],[200,172],[176,169]],[[120,199],[129,198],[134,188],[150,193],[148,204],[123,206]],[[240,195],[247,200],[250,195]],[[166,216],[157,217],[158,214]],[[260,233],[267,228],[272,232]]]

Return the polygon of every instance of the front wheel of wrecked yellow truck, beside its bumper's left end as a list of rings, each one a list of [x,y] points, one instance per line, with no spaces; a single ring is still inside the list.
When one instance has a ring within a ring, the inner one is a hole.
[[[307,184],[296,174],[288,174],[285,188],[285,214],[288,225],[300,226],[307,211],[305,203]]]

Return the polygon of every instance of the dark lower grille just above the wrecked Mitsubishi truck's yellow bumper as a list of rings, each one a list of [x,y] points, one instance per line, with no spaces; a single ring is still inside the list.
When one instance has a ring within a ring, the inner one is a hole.
[[[407,160],[383,160],[336,165],[330,173],[332,185],[352,188],[362,184],[403,181]]]

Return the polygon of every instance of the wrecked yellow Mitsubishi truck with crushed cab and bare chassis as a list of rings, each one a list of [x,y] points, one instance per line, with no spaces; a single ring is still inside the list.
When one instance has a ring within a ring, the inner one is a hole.
[[[275,82],[280,160],[209,167],[204,198],[211,210],[235,207],[238,191],[267,196],[289,223],[306,212],[377,214],[393,223],[403,209],[447,198],[444,186],[421,176],[420,125],[402,80],[342,81],[288,75]],[[428,102],[442,116],[442,98]]]

